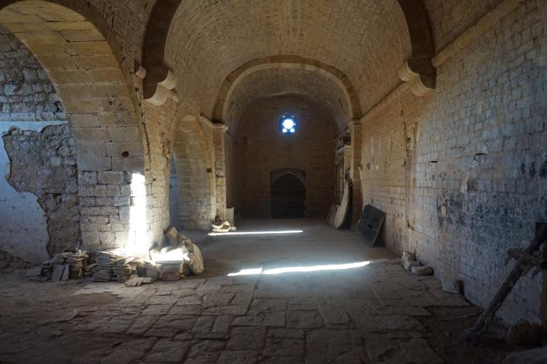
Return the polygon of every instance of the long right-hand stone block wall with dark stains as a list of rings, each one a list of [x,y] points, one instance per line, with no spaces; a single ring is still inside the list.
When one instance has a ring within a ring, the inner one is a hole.
[[[546,50],[528,0],[438,69],[437,89],[409,91],[363,118],[365,203],[387,213],[382,237],[439,276],[461,279],[485,306],[547,222]],[[541,276],[519,281],[501,308],[539,321]]]

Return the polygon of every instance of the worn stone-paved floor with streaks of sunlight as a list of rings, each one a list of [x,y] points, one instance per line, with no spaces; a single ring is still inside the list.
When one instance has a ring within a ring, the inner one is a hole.
[[[268,231],[298,230],[287,234]],[[194,234],[207,273],[122,284],[0,279],[0,363],[499,363],[479,312],[434,277],[314,220]],[[236,274],[236,275],[230,275]]]

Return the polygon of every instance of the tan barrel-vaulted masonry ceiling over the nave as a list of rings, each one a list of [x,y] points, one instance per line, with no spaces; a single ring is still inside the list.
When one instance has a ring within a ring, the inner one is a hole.
[[[173,16],[165,63],[179,79],[179,95],[195,100],[212,118],[224,80],[259,58],[297,56],[321,63],[347,78],[358,108],[368,110],[400,83],[397,70],[411,52],[396,0],[256,0],[252,6],[248,0],[189,0]],[[353,117],[348,90],[332,77],[272,68],[247,74],[249,80],[235,87],[241,90],[229,93],[234,100],[225,100],[226,108],[236,105],[241,113],[256,98],[298,93],[328,105],[338,123]]]

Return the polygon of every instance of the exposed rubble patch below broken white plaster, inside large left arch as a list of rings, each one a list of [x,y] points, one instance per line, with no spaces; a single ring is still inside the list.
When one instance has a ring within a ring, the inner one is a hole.
[[[68,125],[41,132],[14,128],[2,137],[10,160],[9,183],[31,192],[46,213],[51,254],[80,244],[80,207],[74,140]]]

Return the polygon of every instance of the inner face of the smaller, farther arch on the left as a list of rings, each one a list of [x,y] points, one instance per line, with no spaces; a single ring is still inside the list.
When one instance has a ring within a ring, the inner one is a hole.
[[[216,213],[212,132],[200,118],[181,115],[174,125],[172,152],[179,179],[179,223],[208,230]]]

